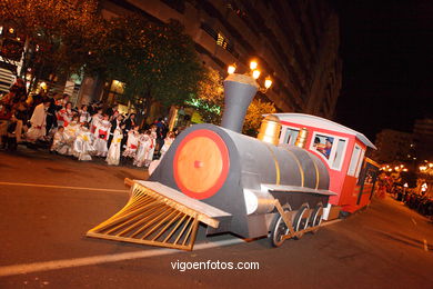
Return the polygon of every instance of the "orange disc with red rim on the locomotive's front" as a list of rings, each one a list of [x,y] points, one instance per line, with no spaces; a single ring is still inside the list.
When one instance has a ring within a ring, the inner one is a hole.
[[[212,197],[229,175],[229,150],[219,134],[200,129],[179,144],[173,159],[174,180],[179,189],[194,199]]]

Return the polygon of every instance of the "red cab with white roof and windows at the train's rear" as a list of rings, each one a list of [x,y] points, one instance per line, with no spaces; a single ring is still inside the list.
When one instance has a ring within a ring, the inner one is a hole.
[[[370,203],[379,165],[365,158],[374,144],[361,132],[315,116],[276,113],[281,120],[280,143],[294,144],[301,130],[308,131],[304,149],[318,156],[330,173],[330,197],[324,219],[351,213]]]

